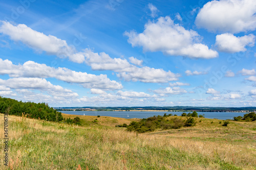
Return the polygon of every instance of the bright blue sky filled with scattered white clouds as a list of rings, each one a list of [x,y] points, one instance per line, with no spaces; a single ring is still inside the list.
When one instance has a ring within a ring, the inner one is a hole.
[[[51,107],[256,106],[256,1],[2,1],[0,95]]]

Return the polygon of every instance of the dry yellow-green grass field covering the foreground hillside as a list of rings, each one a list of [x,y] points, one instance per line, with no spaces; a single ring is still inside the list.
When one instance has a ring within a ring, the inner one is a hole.
[[[194,127],[137,134],[114,127],[136,119],[79,116],[75,126],[8,117],[9,166],[1,144],[0,169],[256,169],[255,122],[197,118]],[[3,114],[0,123],[4,136]]]

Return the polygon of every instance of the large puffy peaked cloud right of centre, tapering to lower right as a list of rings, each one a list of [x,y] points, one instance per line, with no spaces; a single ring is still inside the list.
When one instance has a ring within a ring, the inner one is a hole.
[[[159,17],[156,22],[149,21],[143,33],[125,32],[132,46],[142,46],[144,51],[161,51],[167,55],[190,58],[215,58],[218,53],[209,50],[208,46],[199,43],[201,37],[196,31],[185,30],[166,16]]]

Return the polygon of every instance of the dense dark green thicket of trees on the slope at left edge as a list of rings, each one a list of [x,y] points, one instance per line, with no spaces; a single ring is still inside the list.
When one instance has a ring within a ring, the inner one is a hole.
[[[63,120],[61,112],[57,112],[46,103],[18,102],[14,99],[2,98],[1,96],[0,113],[50,120],[53,122],[60,122]]]

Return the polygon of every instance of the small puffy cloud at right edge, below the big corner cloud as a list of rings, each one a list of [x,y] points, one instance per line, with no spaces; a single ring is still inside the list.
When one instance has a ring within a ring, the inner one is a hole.
[[[255,36],[253,34],[243,37],[236,37],[233,34],[225,33],[216,36],[216,47],[220,52],[237,53],[245,52],[245,46],[254,46]]]

